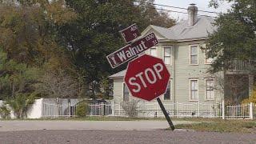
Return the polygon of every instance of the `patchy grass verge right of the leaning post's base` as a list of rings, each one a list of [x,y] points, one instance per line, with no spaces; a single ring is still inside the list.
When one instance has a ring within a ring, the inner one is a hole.
[[[175,128],[222,133],[256,133],[256,122],[251,120],[198,119],[197,122],[201,123],[181,124]]]

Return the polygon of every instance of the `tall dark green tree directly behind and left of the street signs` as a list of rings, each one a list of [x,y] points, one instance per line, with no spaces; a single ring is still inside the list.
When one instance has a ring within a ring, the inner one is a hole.
[[[62,36],[62,43],[66,44],[77,70],[84,75],[84,86],[90,89],[91,98],[95,98],[94,91],[101,90],[103,79],[110,74],[126,68],[121,66],[112,70],[106,60],[106,55],[124,46],[119,30],[137,23],[140,30],[150,25],[147,15],[151,9],[143,9],[134,4],[134,1],[127,0],[67,0],[66,5],[73,8],[78,14],[73,22],[59,26],[59,35]],[[167,18],[165,14],[158,19],[158,24]],[[154,18],[155,19],[155,18]],[[157,22],[157,20],[156,20]]]

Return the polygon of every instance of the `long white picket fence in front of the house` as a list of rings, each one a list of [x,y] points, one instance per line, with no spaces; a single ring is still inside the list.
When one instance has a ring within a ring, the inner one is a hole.
[[[167,113],[172,118],[226,118],[253,119],[254,106],[246,105],[225,106],[222,103],[163,103]],[[124,110],[125,109],[125,110]],[[77,106],[42,103],[42,118],[75,117]],[[115,116],[137,118],[164,117],[157,102],[142,102],[134,106],[122,106],[122,103],[90,104],[87,107],[89,116]]]

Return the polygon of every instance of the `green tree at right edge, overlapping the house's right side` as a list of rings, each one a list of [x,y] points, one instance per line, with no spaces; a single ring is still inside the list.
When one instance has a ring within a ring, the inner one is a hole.
[[[256,2],[254,0],[227,0],[233,2],[231,10],[215,19],[217,30],[207,40],[206,56],[214,58],[211,72],[224,70],[230,61],[256,59]],[[212,0],[210,6],[218,6]],[[254,69],[255,70],[255,69]]]

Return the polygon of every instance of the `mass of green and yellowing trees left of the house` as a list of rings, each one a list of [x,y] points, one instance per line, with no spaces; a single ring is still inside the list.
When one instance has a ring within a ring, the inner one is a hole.
[[[125,45],[118,31],[133,23],[140,30],[174,25],[154,5],[133,0],[0,3],[0,99],[35,93],[109,98],[108,76],[126,67],[112,70],[106,61]]]

